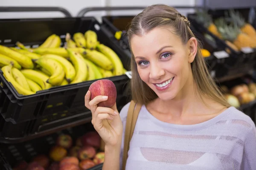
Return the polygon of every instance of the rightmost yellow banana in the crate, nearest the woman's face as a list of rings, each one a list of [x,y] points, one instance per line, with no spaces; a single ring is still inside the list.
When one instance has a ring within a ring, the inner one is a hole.
[[[113,74],[116,76],[122,75],[123,74],[123,65],[121,59],[117,56],[117,54],[108,46],[104,44],[99,44],[97,45],[97,49],[104,54],[105,56],[108,57],[108,59],[111,60],[113,63]]]

